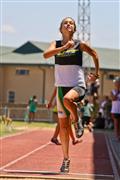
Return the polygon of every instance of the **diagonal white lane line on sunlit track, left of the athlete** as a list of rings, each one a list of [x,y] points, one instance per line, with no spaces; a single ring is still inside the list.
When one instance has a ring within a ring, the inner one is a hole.
[[[48,143],[46,143],[46,144],[44,144],[44,145],[42,145],[42,146],[40,146],[40,147],[34,149],[33,151],[30,151],[29,153],[27,153],[27,154],[25,154],[25,155],[23,155],[23,156],[21,156],[21,157],[15,159],[14,161],[11,161],[10,163],[8,163],[8,164],[2,166],[2,167],[0,168],[0,171],[3,170],[4,168],[8,167],[8,166],[11,166],[11,165],[15,164],[16,162],[18,162],[18,161],[20,161],[20,160],[22,160],[22,159],[24,159],[24,158],[30,156],[31,154],[34,154],[35,152],[37,152],[37,151],[39,151],[39,150],[45,148],[45,147],[48,146],[49,144],[51,144],[50,141],[49,141]]]

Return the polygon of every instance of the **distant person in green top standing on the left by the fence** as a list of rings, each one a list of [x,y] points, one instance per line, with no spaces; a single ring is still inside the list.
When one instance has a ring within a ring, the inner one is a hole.
[[[29,102],[29,123],[33,122],[35,119],[35,113],[37,111],[37,97],[34,95],[30,98]]]

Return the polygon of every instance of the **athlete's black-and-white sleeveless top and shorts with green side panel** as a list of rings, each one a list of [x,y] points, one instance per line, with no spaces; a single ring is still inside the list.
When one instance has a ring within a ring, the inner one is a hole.
[[[80,42],[74,40],[74,47],[55,55],[55,86],[57,87],[58,117],[65,118],[69,112],[63,105],[63,97],[74,89],[80,95],[75,101],[80,101],[85,95],[85,79],[82,70],[83,53],[80,50]],[[56,41],[56,48],[61,47],[61,41]]]

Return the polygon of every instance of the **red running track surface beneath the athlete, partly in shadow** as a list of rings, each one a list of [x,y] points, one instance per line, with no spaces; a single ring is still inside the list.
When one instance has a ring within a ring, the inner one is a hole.
[[[8,173],[6,170],[22,170],[39,171],[33,173],[35,176],[44,174],[47,177],[54,175],[56,179],[60,177],[57,173],[62,163],[62,151],[61,146],[50,143],[52,134],[53,130],[42,129],[0,139],[1,174],[18,176],[22,173]],[[83,176],[113,179],[112,165],[103,133],[85,132],[81,143],[73,146],[70,142],[70,157],[70,173],[62,176],[70,179],[71,177],[82,179]]]

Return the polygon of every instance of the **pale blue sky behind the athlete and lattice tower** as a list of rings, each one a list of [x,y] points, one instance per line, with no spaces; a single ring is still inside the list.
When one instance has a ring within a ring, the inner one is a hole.
[[[20,46],[28,40],[51,42],[61,37],[59,25],[66,16],[77,23],[77,0],[0,0],[1,44]],[[120,48],[120,1],[91,0],[91,45]]]

